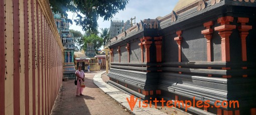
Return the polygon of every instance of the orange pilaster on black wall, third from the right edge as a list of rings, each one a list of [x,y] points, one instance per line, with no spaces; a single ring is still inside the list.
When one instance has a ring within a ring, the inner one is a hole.
[[[207,61],[211,61],[211,37],[213,29],[211,26],[213,25],[213,21],[208,21],[204,23],[204,27],[206,29],[202,30],[201,33],[204,34],[204,37],[207,39]]]

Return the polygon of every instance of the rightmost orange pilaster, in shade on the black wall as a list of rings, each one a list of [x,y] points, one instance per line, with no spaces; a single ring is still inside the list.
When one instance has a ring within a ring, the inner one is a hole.
[[[242,61],[247,61],[247,52],[246,52],[246,37],[249,34],[248,30],[252,28],[251,25],[246,25],[245,23],[249,22],[248,17],[238,17],[238,23],[241,23],[241,26],[238,26],[238,30],[241,36],[241,46],[242,46]]]

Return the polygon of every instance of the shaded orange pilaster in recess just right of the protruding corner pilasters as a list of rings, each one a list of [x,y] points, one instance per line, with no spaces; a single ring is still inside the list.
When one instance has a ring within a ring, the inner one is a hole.
[[[154,37],[157,48],[157,62],[162,62],[162,36]]]

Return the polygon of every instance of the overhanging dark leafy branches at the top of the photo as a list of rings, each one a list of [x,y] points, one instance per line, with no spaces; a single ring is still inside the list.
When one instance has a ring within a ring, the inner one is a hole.
[[[123,10],[129,0],[49,0],[54,12],[59,12],[67,16],[66,11],[77,14],[74,21],[82,26],[84,31],[97,30],[98,17],[108,20],[115,15],[118,10]],[[70,23],[72,21],[69,19]]]

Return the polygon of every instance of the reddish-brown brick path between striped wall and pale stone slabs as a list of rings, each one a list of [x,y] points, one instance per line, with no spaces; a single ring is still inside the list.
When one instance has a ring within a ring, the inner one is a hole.
[[[93,83],[93,76],[99,72],[85,73],[84,96],[75,96],[73,79],[63,81],[51,114],[129,114]]]

